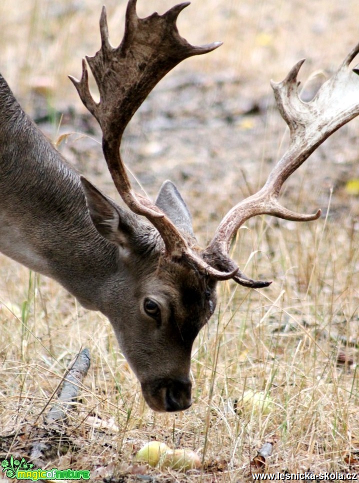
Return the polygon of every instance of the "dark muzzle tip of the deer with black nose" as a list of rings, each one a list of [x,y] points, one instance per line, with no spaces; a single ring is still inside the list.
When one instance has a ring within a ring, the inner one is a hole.
[[[192,404],[192,384],[188,378],[160,379],[141,383],[143,397],[153,411],[184,411]]]

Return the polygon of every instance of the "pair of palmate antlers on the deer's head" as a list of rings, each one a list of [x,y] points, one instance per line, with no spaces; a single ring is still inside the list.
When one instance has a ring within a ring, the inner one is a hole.
[[[101,126],[104,157],[120,196],[132,212],[145,216],[158,230],[164,242],[164,256],[216,280],[233,279],[247,287],[265,287],[271,282],[254,281],[240,272],[228,256],[230,242],[246,220],[259,214],[294,221],[319,217],[320,210],[312,215],[301,215],[282,207],[278,203],[278,195],[288,176],[319,144],[359,113],[358,71],[349,69],[350,62],[359,51],[359,44],[309,103],[301,101],[298,95],[297,74],[303,60],[282,82],[271,83],[276,104],[290,129],[289,147],[264,186],[234,206],[220,222],[207,248],[199,251],[154,203],[133,191],[119,151],[127,123],[156,83],[181,60],[210,52],[221,45],[221,42],[214,42],[195,47],[179,35],[176,19],[188,4],[178,4],[163,15],[153,13],[139,18],[135,10],[136,0],[129,0],[125,33],[116,48],[108,40],[106,10],[103,7],[100,17],[101,48],[93,57],[86,56],[98,86],[99,102],[96,103],[89,92],[84,60],[81,79],[70,79],[83,104]]]

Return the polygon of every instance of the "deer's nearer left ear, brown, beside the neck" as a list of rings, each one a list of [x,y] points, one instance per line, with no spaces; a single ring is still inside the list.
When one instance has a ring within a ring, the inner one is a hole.
[[[139,220],[104,196],[87,179],[80,177],[92,223],[100,235],[112,243],[128,247],[138,231]]]

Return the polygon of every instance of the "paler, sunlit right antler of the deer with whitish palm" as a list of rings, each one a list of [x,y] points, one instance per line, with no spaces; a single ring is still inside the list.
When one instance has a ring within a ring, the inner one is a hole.
[[[359,43],[308,103],[298,95],[297,74],[304,60],[297,62],[282,82],[271,81],[277,107],[290,129],[288,149],[264,186],[224,216],[212,241],[202,253],[208,263],[221,270],[231,266],[228,257],[231,239],[239,227],[253,216],[268,214],[293,221],[310,221],[320,216],[320,210],[311,215],[294,213],[278,203],[278,195],[284,181],[319,144],[359,114],[359,77],[356,75],[359,69],[349,69],[358,52]],[[239,278],[236,274],[233,280],[243,285]]]

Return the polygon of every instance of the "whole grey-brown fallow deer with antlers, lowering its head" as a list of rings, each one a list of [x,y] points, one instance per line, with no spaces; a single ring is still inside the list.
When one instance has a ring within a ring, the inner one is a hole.
[[[299,96],[297,62],[281,82],[271,82],[290,130],[289,145],[259,191],[239,201],[202,248],[189,209],[165,181],[153,202],[131,186],[120,153],[123,131],[157,82],[187,57],[221,45],[193,46],[176,19],[189,2],[145,18],[129,0],[119,46],[109,41],[102,8],[100,49],[82,60],[79,80],[69,76],[98,121],[103,157],[123,201],[115,203],[71,167],[24,113],[0,76],[0,251],[50,277],[83,307],[110,321],[148,406],[182,411],[191,401],[192,344],[216,307],[216,286],[233,280],[249,288],[271,282],[247,277],[229,256],[239,227],[257,215],[306,222],[278,200],[284,181],[339,127],[359,113],[359,68],[346,56],[310,102]],[[87,66],[99,91],[95,102]]]

